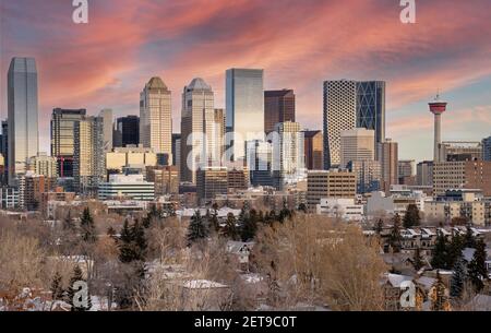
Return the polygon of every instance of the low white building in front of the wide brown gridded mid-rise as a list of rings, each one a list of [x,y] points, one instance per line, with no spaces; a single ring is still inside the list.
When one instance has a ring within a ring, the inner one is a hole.
[[[363,205],[356,204],[355,199],[322,198],[321,203],[318,204],[316,214],[346,222],[361,222]]]

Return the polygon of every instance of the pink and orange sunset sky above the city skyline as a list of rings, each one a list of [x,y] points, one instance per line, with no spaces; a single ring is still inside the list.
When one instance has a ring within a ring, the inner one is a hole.
[[[0,110],[7,117],[12,57],[35,57],[39,133],[49,152],[52,108],[139,115],[140,92],[159,75],[181,92],[201,76],[224,107],[225,70],[262,68],[265,88],[294,88],[304,128],[322,129],[324,80],[387,82],[387,136],[399,158],[432,157],[428,102],[448,102],[444,140],[491,135],[491,1],[416,0],[402,24],[399,0],[89,0],[89,23],[71,0],[0,0]]]

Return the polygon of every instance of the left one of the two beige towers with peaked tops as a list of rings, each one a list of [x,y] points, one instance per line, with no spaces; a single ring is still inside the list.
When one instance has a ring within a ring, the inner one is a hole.
[[[140,143],[172,164],[171,92],[160,78],[152,78],[140,94]]]

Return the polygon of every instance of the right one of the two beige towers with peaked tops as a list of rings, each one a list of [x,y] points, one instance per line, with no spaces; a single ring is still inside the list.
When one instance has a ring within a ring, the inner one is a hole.
[[[203,79],[194,79],[182,93],[181,180],[196,182],[196,170],[220,166],[224,111],[214,107],[215,94]]]

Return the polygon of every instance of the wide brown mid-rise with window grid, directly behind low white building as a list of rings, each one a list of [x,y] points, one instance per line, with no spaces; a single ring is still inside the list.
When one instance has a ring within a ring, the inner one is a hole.
[[[348,170],[312,170],[307,174],[307,204],[315,212],[323,198],[354,199],[357,194],[357,179]]]

